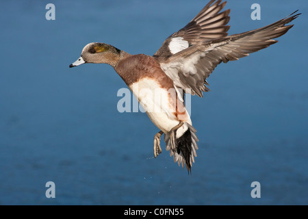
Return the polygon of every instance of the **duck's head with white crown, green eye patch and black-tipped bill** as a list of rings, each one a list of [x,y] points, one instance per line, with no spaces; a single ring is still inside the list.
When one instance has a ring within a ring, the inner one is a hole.
[[[120,49],[110,44],[91,42],[84,47],[78,60],[70,64],[70,68],[84,63],[105,63],[115,67],[120,59]]]

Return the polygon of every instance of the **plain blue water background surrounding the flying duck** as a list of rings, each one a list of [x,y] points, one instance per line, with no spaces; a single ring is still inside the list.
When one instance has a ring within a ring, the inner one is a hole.
[[[229,34],[303,14],[277,44],[220,64],[211,92],[192,97],[192,175],[164,142],[154,159],[159,130],[146,114],[118,112],[126,86],[112,67],[68,68],[88,42],[153,55],[206,3],[1,1],[0,205],[307,205],[307,1],[228,1]],[[261,198],[251,198],[253,181]]]

